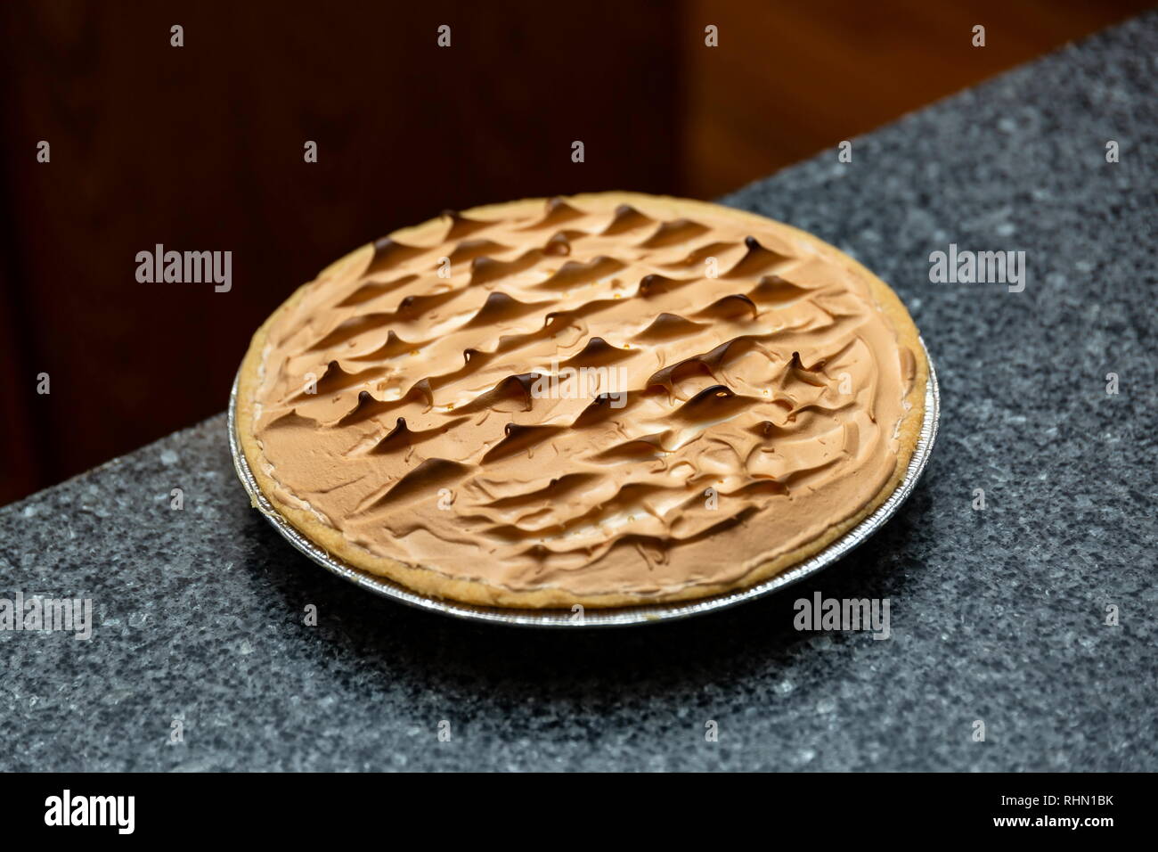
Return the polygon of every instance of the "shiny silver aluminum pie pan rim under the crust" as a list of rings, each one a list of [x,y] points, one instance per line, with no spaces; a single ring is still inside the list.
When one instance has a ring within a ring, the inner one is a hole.
[[[925,343],[921,341],[922,349]],[[925,410],[924,421],[921,424],[921,434],[917,437],[917,445],[913,457],[909,459],[908,469],[901,479],[900,485],[864,520],[845,532],[843,536],[831,541],[820,552],[813,554],[802,562],[787,568],[774,577],[769,577],[762,583],[739,589],[735,591],[714,595],[712,597],[696,600],[681,600],[670,604],[645,604],[640,606],[624,606],[614,609],[587,607],[581,613],[572,610],[521,610],[501,606],[477,606],[474,604],[459,603],[456,600],[445,600],[419,595],[406,587],[394,582],[388,577],[380,577],[368,571],[356,568],[347,562],[336,559],[318,547],[301,532],[298,531],[266,498],[257,487],[254,473],[245,459],[245,453],[241,450],[241,440],[237,437],[237,378],[234,379],[233,389],[229,393],[229,409],[227,430],[229,434],[229,452],[233,456],[233,466],[237,471],[237,478],[249,493],[250,500],[262,515],[265,516],[285,537],[290,544],[317,562],[332,574],[337,574],[351,583],[380,595],[384,598],[396,600],[409,606],[415,606],[427,612],[438,612],[444,616],[453,616],[470,621],[486,621],[490,624],[505,624],[518,627],[556,627],[556,628],[582,628],[582,627],[626,627],[630,625],[659,624],[660,621],[673,621],[689,618],[691,616],[703,616],[709,612],[726,610],[736,604],[755,600],[767,595],[771,595],[793,583],[798,583],[806,577],[827,568],[833,562],[844,556],[855,547],[864,542],[877,532],[896,512],[901,504],[908,500],[913,489],[921,479],[929,456],[932,452],[933,443],[937,439],[937,425],[940,420],[940,388],[937,384],[937,373],[933,371],[933,363],[929,358],[925,349],[925,361],[929,364],[929,381],[925,385]]]

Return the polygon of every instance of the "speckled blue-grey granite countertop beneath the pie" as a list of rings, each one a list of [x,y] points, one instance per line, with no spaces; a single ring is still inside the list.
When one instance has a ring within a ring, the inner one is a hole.
[[[250,509],[222,415],[0,510],[0,597],[95,609],[0,632],[0,769],[1158,770],[1156,57],[1151,13],[725,199],[892,283],[940,378],[919,487],[812,581],[616,631],[410,610]],[[951,242],[1024,292],[931,283]],[[796,631],[816,591],[892,636]]]

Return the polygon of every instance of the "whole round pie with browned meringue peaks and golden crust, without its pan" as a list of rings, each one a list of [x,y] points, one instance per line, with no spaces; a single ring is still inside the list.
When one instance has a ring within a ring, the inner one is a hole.
[[[828,243],[629,192],[444,213],[296,290],[242,363],[264,495],[346,563],[515,607],[689,600],[901,481],[929,365]]]

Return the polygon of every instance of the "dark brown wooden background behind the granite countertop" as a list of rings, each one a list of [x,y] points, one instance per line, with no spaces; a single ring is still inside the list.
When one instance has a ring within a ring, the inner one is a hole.
[[[710,198],[1149,5],[0,3],[0,503],[221,410],[269,312],[395,227]],[[157,242],[232,250],[233,290],[139,284]]]

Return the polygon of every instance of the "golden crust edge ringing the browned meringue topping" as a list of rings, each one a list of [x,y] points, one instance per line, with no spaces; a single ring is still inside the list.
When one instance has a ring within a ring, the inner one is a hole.
[[[263,469],[262,461],[264,460],[264,456],[262,454],[256,434],[254,431],[254,396],[258,384],[262,352],[265,348],[269,329],[283,311],[291,308],[298,299],[302,297],[306,289],[327,276],[328,272],[337,270],[343,264],[353,263],[361,253],[367,254],[366,262],[368,262],[371,253],[373,252],[373,243],[366,243],[329,264],[313,282],[308,282],[299,286],[290,296],[290,298],[279,305],[278,308],[270,314],[265,322],[263,322],[254,334],[249,349],[247,350],[245,357],[241,364],[237,386],[236,424],[237,437],[241,442],[242,452],[245,454],[250,471],[252,472],[254,479],[257,481],[262,494],[281,514],[281,516],[294,526],[294,529],[314,541],[316,545],[321,546],[327,553],[338,556],[347,565],[374,576],[387,577],[408,588],[410,591],[426,597],[450,599],[459,603],[482,606],[506,606],[527,610],[560,609],[574,605],[592,609],[618,609],[624,606],[646,606],[648,604],[697,600],[725,592],[747,589],[762,583],[765,580],[769,580],[777,574],[783,573],[787,568],[819,553],[829,544],[868,517],[868,515],[875,511],[886,500],[888,500],[904,478],[909,461],[916,450],[917,438],[919,437],[921,428],[924,422],[925,387],[929,381],[929,362],[925,357],[924,347],[921,343],[919,332],[917,330],[913,318],[909,315],[908,310],[904,307],[904,304],[893,289],[888,286],[888,284],[878,278],[871,270],[856,261],[853,257],[837,249],[835,246],[830,246],[806,231],[801,231],[791,225],[786,225],[775,219],[769,219],[768,217],[760,216],[757,213],[749,213],[748,211],[735,210],[733,207],[712,204],[710,202],[675,198],[672,196],[652,196],[640,192],[585,192],[562,197],[564,201],[573,202],[578,205],[582,205],[585,202],[598,202],[600,204],[610,204],[613,207],[614,205],[621,203],[630,204],[636,202],[647,204],[648,206],[655,206],[657,203],[659,203],[669,205],[670,211],[676,214],[687,213],[697,209],[706,209],[716,214],[719,214],[719,211],[723,210],[733,217],[753,219],[754,221],[761,223],[763,227],[767,227],[768,223],[772,223],[777,227],[783,228],[787,234],[802,240],[815,250],[827,257],[830,257],[833,261],[838,262],[864,276],[868,282],[874,298],[877,299],[878,307],[880,307],[881,312],[893,325],[899,342],[909,348],[916,362],[913,387],[906,398],[909,403],[909,410],[901,421],[897,430],[896,468],[888,481],[877,493],[874,498],[866,503],[860,511],[856,512],[840,524],[829,527],[824,534],[808,541],[805,545],[801,545],[800,547],[783,553],[776,559],[762,562],[735,582],[692,585],[673,592],[664,592],[659,595],[630,595],[615,592],[585,596],[556,588],[536,589],[533,591],[513,590],[484,583],[482,581],[449,577],[433,568],[409,566],[394,559],[369,553],[365,548],[347,540],[338,530],[320,522],[312,512],[285,504],[277,500],[274,496],[277,482]],[[476,216],[482,218],[486,218],[488,213],[493,212],[511,214],[521,212],[521,209],[530,210],[534,207],[541,207],[547,203],[547,198],[523,198],[520,201],[501,202],[498,204],[486,204],[471,207],[470,210],[462,211],[462,213],[463,216]],[[408,239],[416,236],[422,238],[430,230],[444,225],[444,223],[445,219],[441,216],[434,217],[433,219],[428,219],[419,225],[408,226],[394,231],[389,234],[389,236],[401,242],[405,242]]]

